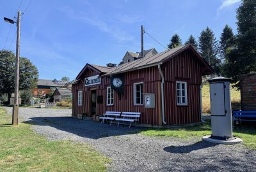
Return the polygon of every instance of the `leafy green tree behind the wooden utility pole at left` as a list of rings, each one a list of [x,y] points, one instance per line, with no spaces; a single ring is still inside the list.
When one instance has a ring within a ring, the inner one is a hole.
[[[29,90],[35,87],[38,80],[38,70],[29,59],[20,57],[19,90]],[[14,92],[15,55],[7,50],[0,51],[0,92],[8,94],[8,101]]]

